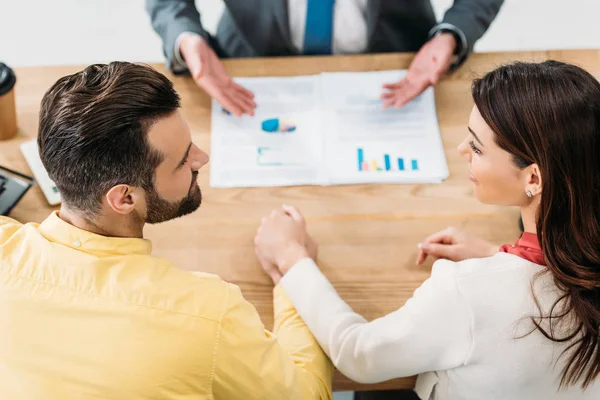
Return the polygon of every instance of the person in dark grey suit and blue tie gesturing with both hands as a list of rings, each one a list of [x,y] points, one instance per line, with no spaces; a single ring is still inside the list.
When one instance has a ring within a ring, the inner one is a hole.
[[[401,107],[458,67],[504,0],[454,0],[440,23],[430,0],[224,0],[213,37],[193,0],[146,0],[168,67],[189,73],[234,115],[254,114],[253,94],[219,58],[417,52],[408,74],[384,86]]]

